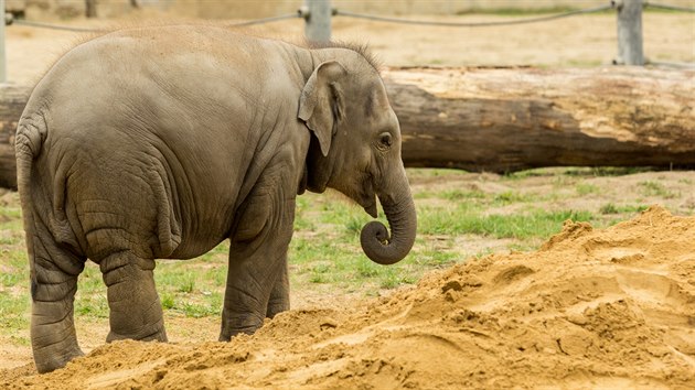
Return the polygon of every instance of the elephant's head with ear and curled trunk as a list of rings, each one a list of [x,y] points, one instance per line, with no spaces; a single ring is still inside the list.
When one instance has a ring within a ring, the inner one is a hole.
[[[413,248],[417,217],[400,159],[400,127],[376,67],[352,50],[316,67],[300,99],[299,118],[316,137],[307,158],[307,188],[338,189],[376,217],[376,196],[391,226],[362,228],[365,254],[379,264]]]

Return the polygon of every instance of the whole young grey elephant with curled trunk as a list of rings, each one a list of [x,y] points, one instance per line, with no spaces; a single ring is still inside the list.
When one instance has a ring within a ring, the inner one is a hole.
[[[83,43],[33,91],[15,138],[40,372],[82,355],[73,325],[86,259],[103,272],[107,340],[167,340],[154,259],[231,240],[221,340],[289,308],[295,201],[335,188],[392,234],[362,231],[378,263],[403,259],[416,215],[384,85],[349,48],[308,50],[210,26],[132,29]]]

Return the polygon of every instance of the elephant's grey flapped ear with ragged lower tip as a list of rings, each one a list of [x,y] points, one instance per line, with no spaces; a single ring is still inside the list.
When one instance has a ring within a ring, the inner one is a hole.
[[[345,73],[345,68],[336,61],[321,63],[309,77],[299,98],[298,117],[319,139],[324,156],[331,149],[336,120],[344,113],[340,80]]]

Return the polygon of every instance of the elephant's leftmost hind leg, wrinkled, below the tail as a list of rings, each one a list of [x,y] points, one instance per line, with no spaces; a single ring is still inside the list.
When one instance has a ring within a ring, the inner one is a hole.
[[[41,224],[28,239],[31,273],[31,345],[40,373],[84,355],[77,345],[73,303],[85,259],[64,249]]]

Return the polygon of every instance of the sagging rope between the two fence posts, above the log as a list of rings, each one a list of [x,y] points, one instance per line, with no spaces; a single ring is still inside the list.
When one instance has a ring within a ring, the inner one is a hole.
[[[498,22],[432,22],[432,21],[421,21],[421,20],[409,20],[409,19],[400,19],[400,18],[387,18],[387,17],[377,17],[370,14],[362,14],[349,11],[335,10],[335,14],[339,17],[348,17],[355,19],[366,19],[374,20],[377,22],[387,22],[387,23],[402,23],[402,24],[419,24],[419,25],[437,25],[437,26],[446,26],[446,28],[488,28],[494,25],[512,25],[512,24],[526,24],[526,23],[537,23],[545,22],[549,20],[556,20],[560,18],[573,17],[581,13],[592,13],[610,10],[613,6],[601,6],[595,8],[587,8],[584,10],[568,11],[564,13],[557,13],[547,17],[538,17],[538,18],[527,18],[520,20],[510,20],[510,21],[498,21]]]

